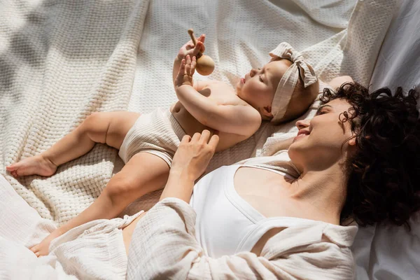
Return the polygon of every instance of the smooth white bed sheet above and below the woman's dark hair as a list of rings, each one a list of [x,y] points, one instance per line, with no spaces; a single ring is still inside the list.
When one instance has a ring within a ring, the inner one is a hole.
[[[405,92],[420,84],[420,1],[402,0],[395,12],[377,64],[371,89],[402,86]],[[357,279],[420,279],[420,214],[404,227],[379,225],[359,228],[353,244]]]

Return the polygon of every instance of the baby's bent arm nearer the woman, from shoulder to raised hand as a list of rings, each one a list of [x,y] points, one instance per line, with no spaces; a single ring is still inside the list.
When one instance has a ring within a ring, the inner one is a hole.
[[[213,99],[204,97],[193,87],[195,57],[183,59],[176,78],[176,95],[200,123],[214,130],[251,136],[261,125],[260,113],[251,106],[217,104]]]

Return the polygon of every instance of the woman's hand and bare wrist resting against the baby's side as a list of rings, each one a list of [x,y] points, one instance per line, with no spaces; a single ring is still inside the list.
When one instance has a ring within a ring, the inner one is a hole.
[[[201,134],[194,134],[193,138],[188,135],[183,137],[160,200],[176,197],[190,202],[194,181],[204,173],[218,145],[218,135],[210,136],[209,130],[203,130]]]

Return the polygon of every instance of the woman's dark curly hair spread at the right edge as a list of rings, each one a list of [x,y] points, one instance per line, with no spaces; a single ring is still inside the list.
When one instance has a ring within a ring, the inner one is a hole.
[[[336,93],[323,92],[323,104],[344,99],[351,104],[340,115],[356,133],[357,151],[346,162],[347,197],[342,221],[352,217],[359,225],[390,222],[405,224],[420,209],[420,125],[416,109],[419,93],[405,96],[398,87],[369,94],[358,83],[344,83]]]

